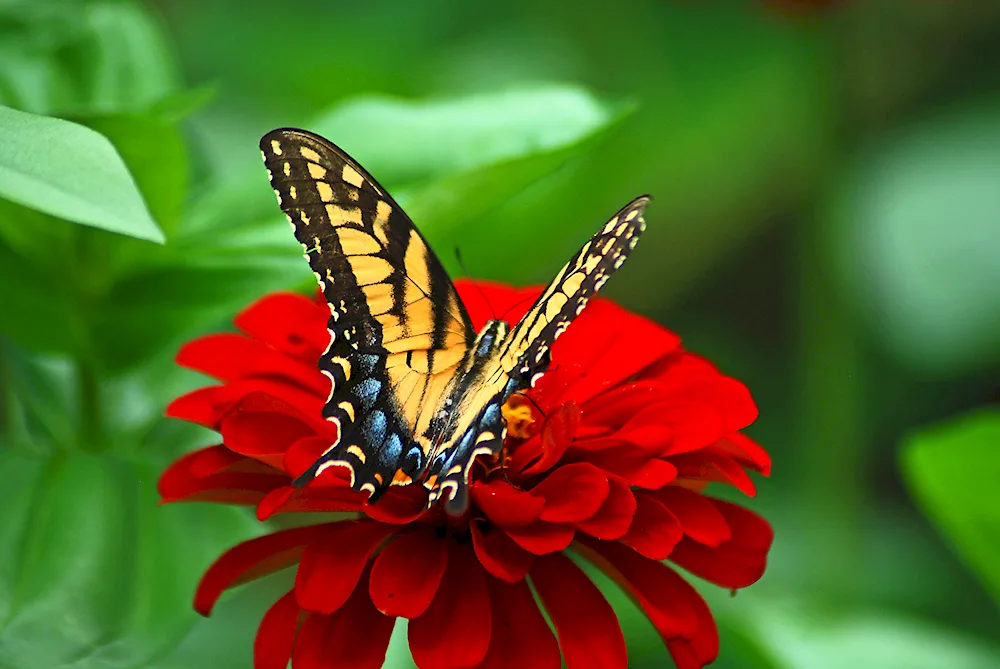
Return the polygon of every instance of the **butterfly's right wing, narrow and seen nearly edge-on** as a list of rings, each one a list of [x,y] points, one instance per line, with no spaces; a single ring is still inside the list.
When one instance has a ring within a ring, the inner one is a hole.
[[[646,229],[642,215],[649,200],[642,196],[630,202],[584,244],[503,339],[478,386],[463,389],[470,415],[431,453],[426,475],[433,481],[431,500],[447,494],[449,513],[461,514],[468,505],[472,461],[503,445],[500,407],[514,391],[534,386],[548,369],[553,342],[635,248]]]

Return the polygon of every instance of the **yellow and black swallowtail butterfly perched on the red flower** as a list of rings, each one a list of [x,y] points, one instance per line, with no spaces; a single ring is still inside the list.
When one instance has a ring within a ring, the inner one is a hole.
[[[552,343],[625,262],[649,197],[615,214],[516,325],[491,320],[477,333],[426,240],[350,156],[294,128],[269,132],[260,148],[330,308],[319,369],[338,437],[293,484],[342,466],[370,502],[418,481],[428,507],[441,499],[463,514],[473,462],[503,446],[504,403],[537,383]]]

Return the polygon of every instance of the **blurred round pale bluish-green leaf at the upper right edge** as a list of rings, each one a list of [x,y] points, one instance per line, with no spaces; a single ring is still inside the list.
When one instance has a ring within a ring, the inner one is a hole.
[[[902,362],[956,375],[1000,360],[1000,106],[923,119],[863,155],[831,213],[849,299]]]

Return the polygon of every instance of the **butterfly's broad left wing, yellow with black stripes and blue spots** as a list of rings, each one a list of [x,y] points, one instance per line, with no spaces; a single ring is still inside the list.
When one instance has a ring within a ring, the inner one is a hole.
[[[350,156],[296,129],[274,130],[260,147],[330,306],[319,368],[332,382],[323,415],[339,435],[295,483],[343,465],[374,500],[426,466],[415,435],[473,341],[469,316],[409,217]]]

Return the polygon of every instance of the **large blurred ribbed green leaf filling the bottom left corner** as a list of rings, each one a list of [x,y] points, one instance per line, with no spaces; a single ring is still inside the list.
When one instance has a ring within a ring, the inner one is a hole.
[[[256,524],[228,507],[156,504],[149,465],[0,451],[0,666],[113,669],[173,648],[202,570]]]

